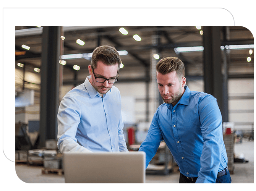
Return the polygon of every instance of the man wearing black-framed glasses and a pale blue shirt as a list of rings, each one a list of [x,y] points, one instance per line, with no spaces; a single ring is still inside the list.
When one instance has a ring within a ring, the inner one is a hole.
[[[118,80],[120,55],[114,47],[100,46],[92,53],[84,83],[62,99],[58,109],[61,152],[127,152],[121,116]]]

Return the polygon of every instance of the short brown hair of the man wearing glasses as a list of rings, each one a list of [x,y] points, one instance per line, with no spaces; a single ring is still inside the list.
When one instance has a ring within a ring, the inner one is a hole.
[[[118,63],[118,70],[121,65],[121,58],[115,47],[103,45],[97,47],[92,52],[91,66],[92,69],[97,68],[97,62],[101,61],[106,65],[115,65]]]

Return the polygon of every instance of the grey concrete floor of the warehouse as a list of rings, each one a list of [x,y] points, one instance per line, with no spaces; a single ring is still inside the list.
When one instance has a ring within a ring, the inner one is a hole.
[[[241,144],[235,144],[234,153],[243,154],[248,163],[235,163],[232,183],[254,183],[254,141],[243,139]],[[25,183],[65,183],[64,175],[42,174],[42,167],[31,165],[16,165],[18,178]],[[170,175],[146,175],[146,183],[178,183],[179,172]]]

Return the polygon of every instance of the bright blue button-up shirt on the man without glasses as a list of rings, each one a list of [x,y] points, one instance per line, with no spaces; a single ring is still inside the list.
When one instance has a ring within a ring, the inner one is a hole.
[[[180,173],[197,177],[196,183],[215,183],[217,173],[227,167],[222,135],[222,116],[216,99],[204,92],[185,92],[178,103],[157,108],[145,141],[146,167],[165,141]]]

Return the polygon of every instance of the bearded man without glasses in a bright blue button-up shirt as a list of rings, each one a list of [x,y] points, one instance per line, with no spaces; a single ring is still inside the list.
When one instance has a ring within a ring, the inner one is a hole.
[[[146,152],[146,167],[164,140],[178,164],[180,183],[231,183],[216,99],[190,91],[178,58],[161,59],[156,70],[165,103],[157,108],[139,148]]]

